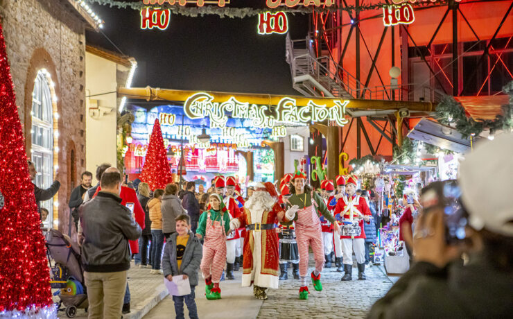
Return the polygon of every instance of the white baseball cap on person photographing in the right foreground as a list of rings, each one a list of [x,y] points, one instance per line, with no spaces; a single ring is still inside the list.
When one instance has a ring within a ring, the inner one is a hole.
[[[513,134],[484,141],[465,155],[458,181],[470,225],[513,236]]]

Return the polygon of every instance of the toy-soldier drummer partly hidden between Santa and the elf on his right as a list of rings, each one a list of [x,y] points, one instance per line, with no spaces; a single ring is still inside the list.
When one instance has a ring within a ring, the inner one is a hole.
[[[286,177],[281,179],[280,187],[280,200],[279,203],[282,208],[286,207],[290,191],[288,189],[288,180]],[[297,248],[297,241],[294,232],[293,221],[282,221],[279,223],[279,269],[280,280],[288,279],[288,265],[293,265],[294,279],[299,279],[299,249]]]

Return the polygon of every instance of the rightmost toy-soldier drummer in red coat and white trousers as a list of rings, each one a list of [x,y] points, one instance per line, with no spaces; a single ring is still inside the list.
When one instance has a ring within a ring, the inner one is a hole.
[[[370,223],[372,216],[365,198],[356,195],[358,178],[349,176],[346,182],[347,197],[337,202],[335,215],[342,218],[342,253],[344,277],[342,281],[351,280],[353,251],[358,264],[358,280],[365,280],[365,230],[363,223]]]

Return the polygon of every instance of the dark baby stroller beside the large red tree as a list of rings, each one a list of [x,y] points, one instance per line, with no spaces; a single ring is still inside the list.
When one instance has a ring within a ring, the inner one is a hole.
[[[51,288],[60,288],[54,293],[60,298],[58,310],[65,311],[68,318],[76,316],[77,309],[87,311],[89,304],[78,245],[58,230],[49,230],[46,232],[46,253],[51,268]],[[61,308],[62,304],[65,309]]]

